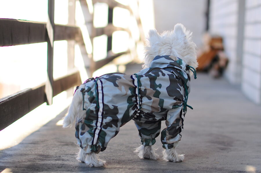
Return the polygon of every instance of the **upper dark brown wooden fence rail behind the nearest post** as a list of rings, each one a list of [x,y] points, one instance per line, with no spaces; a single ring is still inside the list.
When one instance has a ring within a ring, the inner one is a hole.
[[[16,19],[0,19],[0,47],[47,42],[46,23]],[[54,40],[75,40],[81,36],[79,27],[55,25]]]

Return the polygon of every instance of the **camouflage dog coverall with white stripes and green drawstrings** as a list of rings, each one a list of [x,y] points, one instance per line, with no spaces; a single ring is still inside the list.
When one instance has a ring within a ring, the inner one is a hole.
[[[163,148],[177,146],[188,106],[190,68],[177,57],[156,56],[150,68],[134,75],[109,73],[88,79],[81,87],[86,117],[75,126],[79,146],[86,153],[104,151],[131,119],[142,145],[155,143],[161,121],[166,120],[167,127],[161,132]]]

